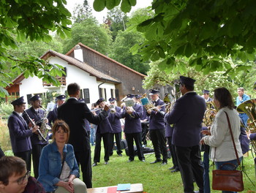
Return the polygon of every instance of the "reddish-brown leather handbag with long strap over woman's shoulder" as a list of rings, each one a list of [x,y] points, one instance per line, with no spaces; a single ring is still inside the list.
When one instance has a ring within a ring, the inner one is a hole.
[[[227,116],[227,112],[225,112],[225,113]],[[230,126],[230,119],[228,116],[227,116],[227,123],[228,123],[228,127],[230,129],[233,146],[234,146],[234,149],[236,152],[236,159],[238,161],[238,165],[240,166],[240,160],[238,158],[235,140],[233,137],[233,133],[232,133],[231,126]],[[215,159],[215,153],[216,153],[216,148],[215,148],[215,152],[214,152],[214,159]],[[231,163],[225,163],[225,164],[231,164]],[[243,191],[244,190],[244,182],[243,182],[242,171],[241,170],[221,170],[225,164],[222,164],[220,166],[220,168],[219,168],[220,170],[212,170],[212,189],[222,190],[222,191],[235,191],[235,192]],[[236,168],[236,166],[234,164],[231,164],[231,165],[233,165],[233,167]]]

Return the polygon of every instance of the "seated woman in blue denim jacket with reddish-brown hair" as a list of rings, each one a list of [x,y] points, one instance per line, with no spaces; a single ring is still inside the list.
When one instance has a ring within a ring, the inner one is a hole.
[[[53,143],[42,149],[39,162],[39,178],[46,192],[87,192],[86,184],[80,181],[79,167],[69,139],[69,126],[56,120],[52,128]]]

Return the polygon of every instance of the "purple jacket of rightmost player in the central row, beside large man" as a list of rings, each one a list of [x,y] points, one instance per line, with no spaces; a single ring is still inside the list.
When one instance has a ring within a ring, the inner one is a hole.
[[[158,99],[154,106],[157,107],[159,105],[165,105],[165,102],[163,102],[161,99]],[[161,107],[160,111],[165,112],[165,106]],[[159,113],[155,110],[152,110],[149,116],[149,130],[153,129],[165,129],[164,116],[162,113]]]

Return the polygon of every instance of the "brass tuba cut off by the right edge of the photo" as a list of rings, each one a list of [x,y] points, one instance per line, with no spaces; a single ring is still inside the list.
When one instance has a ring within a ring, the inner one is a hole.
[[[238,105],[236,108],[238,113],[246,113],[249,117],[248,126],[245,126],[247,132],[255,133],[256,132],[256,99],[249,99],[245,102]],[[251,140],[252,148],[256,154],[256,140]]]

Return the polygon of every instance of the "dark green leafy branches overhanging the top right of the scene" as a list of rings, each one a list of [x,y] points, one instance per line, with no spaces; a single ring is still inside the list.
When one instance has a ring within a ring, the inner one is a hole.
[[[94,0],[94,10],[118,4],[129,12],[136,0]],[[140,53],[144,61],[161,58],[162,70],[179,65],[178,58],[188,58],[189,66],[204,74],[225,71],[234,76],[251,67],[246,61],[255,59],[255,7],[254,0],[154,0],[154,15],[137,25],[146,41],[135,45],[133,53]]]

